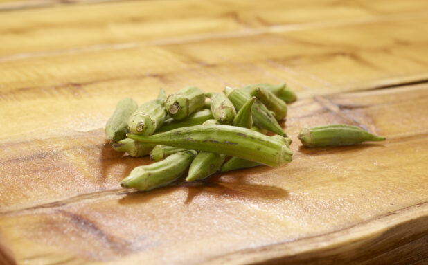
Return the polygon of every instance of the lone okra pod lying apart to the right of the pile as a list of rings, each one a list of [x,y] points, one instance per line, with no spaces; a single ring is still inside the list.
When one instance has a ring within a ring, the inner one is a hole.
[[[305,147],[357,145],[366,141],[385,140],[353,125],[323,125],[303,128],[298,138]]]

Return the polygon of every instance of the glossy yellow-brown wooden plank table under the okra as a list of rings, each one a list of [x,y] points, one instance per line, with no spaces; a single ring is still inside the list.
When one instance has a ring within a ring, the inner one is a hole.
[[[0,0],[0,264],[427,264],[428,1]],[[119,98],[287,82],[294,161],[152,192]],[[306,149],[340,122],[378,144]]]

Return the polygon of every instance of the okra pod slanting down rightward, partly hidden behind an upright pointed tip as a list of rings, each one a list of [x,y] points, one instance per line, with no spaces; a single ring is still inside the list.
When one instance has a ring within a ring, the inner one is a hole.
[[[226,86],[224,93],[227,98],[231,100],[236,109],[240,110],[244,106],[245,102],[251,99],[251,95],[242,89],[233,89]],[[262,102],[256,100],[251,107],[251,116],[253,116],[253,122],[258,127],[265,128],[280,136],[287,136],[283,129],[280,127],[275,117],[269,112]]]

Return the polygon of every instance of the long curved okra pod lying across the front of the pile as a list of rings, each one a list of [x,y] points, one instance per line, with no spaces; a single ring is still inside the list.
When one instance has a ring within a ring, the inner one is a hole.
[[[196,125],[151,136],[127,134],[127,137],[141,143],[238,156],[272,167],[292,161],[292,152],[283,141],[229,125]]]

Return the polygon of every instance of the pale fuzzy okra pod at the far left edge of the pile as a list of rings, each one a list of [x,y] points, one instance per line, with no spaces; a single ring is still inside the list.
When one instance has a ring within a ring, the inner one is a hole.
[[[105,124],[105,135],[109,143],[116,143],[126,138],[128,119],[138,107],[132,98],[119,100],[114,113]]]

